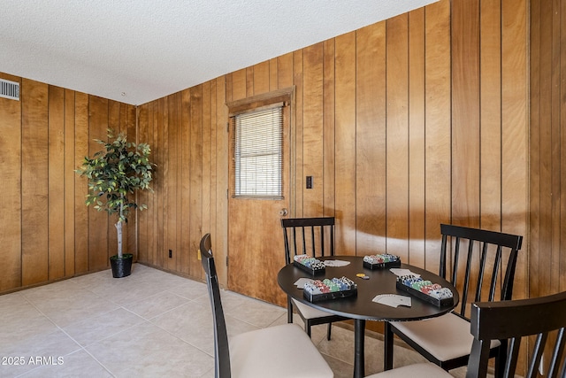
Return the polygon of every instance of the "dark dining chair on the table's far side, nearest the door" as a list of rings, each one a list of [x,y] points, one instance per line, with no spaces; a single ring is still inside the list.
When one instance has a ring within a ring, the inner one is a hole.
[[[285,263],[290,264],[294,256],[307,254],[310,257],[334,256],[334,217],[283,218],[283,239],[285,242]],[[332,323],[348,320],[318,310],[310,305],[287,297],[287,322],[293,322],[293,307],[304,322],[304,330],[310,336],[310,328],[317,324],[328,324],[326,338],[330,340]]]

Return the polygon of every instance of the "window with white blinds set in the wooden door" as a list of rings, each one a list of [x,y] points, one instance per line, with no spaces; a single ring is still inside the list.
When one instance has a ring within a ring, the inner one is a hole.
[[[232,117],[233,197],[283,197],[283,104]]]

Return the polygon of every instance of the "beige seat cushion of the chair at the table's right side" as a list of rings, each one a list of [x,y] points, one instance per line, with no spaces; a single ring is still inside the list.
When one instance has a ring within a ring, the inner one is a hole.
[[[452,312],[427,320],[392,321],[391,325],[440,361],[469,355],[474,340],[470,322]],[[499,340],[493,340],[491,347],[500,344]]]

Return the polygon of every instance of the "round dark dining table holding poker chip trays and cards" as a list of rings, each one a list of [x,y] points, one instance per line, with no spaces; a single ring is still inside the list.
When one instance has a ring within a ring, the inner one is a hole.
[[[329,266],[326,263],[323,274],[310,274],[305,270],[288,264],[279,270],[277,282],[288,296],[312,307],[336,315],[345,316],[354,320],[354,377],[364,376],[364,342],[365,321],[410,321],[423,320],[440,316],[452,311],[459,302],[458,291],[441,278],[438,274],[433,274],[417,266],[401,264],[399,268],[408,269],[413,274],[420,274],[424,280],[439,283],[440,286],[452,291],[453,301],[450,304],[433,304],[420,297],[413,296],[407,291],[397,289],[397,276],[390,271],[389,267],[371,269],[363,266],[363,257],[360,256],[331,256],[318,258],[320,260],[338,260],[348,263],[345,266]],[[363,274],[363,277],[361,275]],[[360,275],[360,276],[358,276]],[[325,278],[347,277],[354,281],[357,286],[356,295],[350,297],[340,297],[335,299],[325,299],[310,302],[303,296],[303,290],[298,288],[295,282],[301,278],[313,280],[324,280]],[[411,298],[411,305],[399,305],[393,307],[373,302],[372,299],[379,295],[396,294]],[[386,359],[388,358],[386,352]]]

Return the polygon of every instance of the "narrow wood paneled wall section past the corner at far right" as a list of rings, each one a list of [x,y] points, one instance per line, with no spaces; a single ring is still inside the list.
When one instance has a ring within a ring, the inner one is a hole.
[[[566,290],[566,0],[531,1],[529,285]]]

